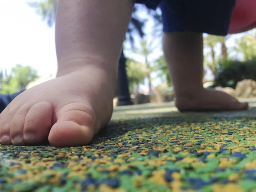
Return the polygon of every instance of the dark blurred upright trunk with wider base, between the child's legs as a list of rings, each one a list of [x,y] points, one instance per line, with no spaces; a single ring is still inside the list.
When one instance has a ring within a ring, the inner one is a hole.
[[[128,84],[128,79],[127,79],[127,74],[125,69],[125,63],[126,63],[126,58],[122,50],[122,53],[119,58],[118,77],[117,77],[117,86],[118,86],[117,105],[118,106],[133,105],[133,103],[131,102],[131,95],[129,92],[129,84]]]

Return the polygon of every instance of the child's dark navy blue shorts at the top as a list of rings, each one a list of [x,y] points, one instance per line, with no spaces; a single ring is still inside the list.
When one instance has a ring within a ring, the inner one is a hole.
[[[164,32],[227,35],[236,0],[136,0],[162,11]]]

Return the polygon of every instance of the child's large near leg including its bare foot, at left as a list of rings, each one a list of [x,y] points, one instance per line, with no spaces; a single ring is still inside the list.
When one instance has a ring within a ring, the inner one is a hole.
[[[84,145],[111,119],[117,63],[133,0],[61,0],[56,79],[17,96],[0,114],[0,143]]]

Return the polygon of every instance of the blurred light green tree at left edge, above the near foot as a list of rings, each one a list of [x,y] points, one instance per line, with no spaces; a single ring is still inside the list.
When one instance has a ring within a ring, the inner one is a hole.
[[[2,70],[1,70],[2,71]],[[0,83],[1,83],[1,94],[12,94],[17,91],[26,89],[26,86],[36,78],[38,78],[37,71],[30,66],[22,66],[17,64],[12,68],[9,75],[3,77],[1,72]]]

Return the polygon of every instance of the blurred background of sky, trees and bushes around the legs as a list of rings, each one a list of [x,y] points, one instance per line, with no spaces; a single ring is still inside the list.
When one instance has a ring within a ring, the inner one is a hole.
[[[55,78],[56,4],[0,0],[0,94]],[[134,6],[119,61],[115,106],[173,100],[161,38],[161,11]],[[236,97],[256,97],[256,29],[226,37],[204,34],[203,82]]]

